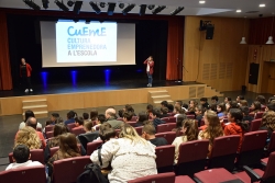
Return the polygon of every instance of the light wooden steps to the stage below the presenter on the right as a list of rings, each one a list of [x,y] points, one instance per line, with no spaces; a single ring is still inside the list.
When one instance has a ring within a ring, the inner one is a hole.
[[[168,103],[174,103],[170,100],[170,95],[166,90],[148,91],[148,103],[152,105],[160,105],[162,101],[167,101]]]

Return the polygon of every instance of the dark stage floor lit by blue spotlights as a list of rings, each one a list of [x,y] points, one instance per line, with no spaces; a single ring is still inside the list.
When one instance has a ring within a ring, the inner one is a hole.
[[[123,90],[123,89],[140,89],[146,88],[146,80],[117,80],[110,82],[79,82],[73,83],[58,83],[47,85],[33,85],[32,93],[25,93],[24,89],[13,89],[10,91],[0,91],[0,98],[9,96],[26,96],[26,95],[42,95],[42,94],[61,94],[61,93],[76,93],[76,92],[98,92],[110,90]],[[199,82],[175,82],[166,80],[153,81],[154,87],[173,87],[173,85],[189,85],[201,84]]]

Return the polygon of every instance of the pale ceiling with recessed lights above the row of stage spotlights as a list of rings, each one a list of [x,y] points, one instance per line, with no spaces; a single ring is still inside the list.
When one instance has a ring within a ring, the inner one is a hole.
[[[42,5],[42,0],[33,0],[36,4]],[[55,0],[50,0],[50,8],[47,10],[61,11],[59,8],[54,3]],[[59,0],[62,1],[62,0]],[[67,0],[63,0],[67,5]],[[122,9],[119,8],[119,3],[134,3],[135,8],[130,13],[139,13],[141,4],[155,4],[166,5],[158,14],[169,14],[177,7],[185,7],[185,9],[178,13],[178,15],[210,15],[210,16],[228,16],[228,18],[257,18],[258,14],[263,16],[272,16],[275,12],[275,0],[205,0],[205,4],[200,4],[199,0],[95,0],[94,2],[117,2],[114,9],[116,13],[121,13]],[[82,12],[94,12],[89,5],[90,0],[84,0],[81,11]],[[265,3],[264,8],[260,8],[260,3]],[[23,0],[0,0],[1,8],[12,8],[12,9],[30,9]],[[100,8],[100,7],[99,7]],[[70,11],[73,8],[69,8]],[[106,8],[100,8],[101,13],[107,11]],[[241,13],[235,11],[240,9]],[[41,11],[45,11],[43,8]],[[249,11],[256,11],[254,13],[246,13]],[[146,14],[152,14],[152,11],[146,9]]]

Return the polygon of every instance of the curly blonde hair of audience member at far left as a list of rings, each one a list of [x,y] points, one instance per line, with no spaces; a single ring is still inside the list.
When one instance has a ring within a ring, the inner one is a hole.
[[[16,134],[14,147],[16,147],[18,145],[25,145],[30,150],[40,149],[41,140],[34,128],[25,126]]]

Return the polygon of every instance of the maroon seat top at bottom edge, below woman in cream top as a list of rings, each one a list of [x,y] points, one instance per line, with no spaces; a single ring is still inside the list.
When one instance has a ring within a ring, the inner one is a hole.
[[[144,178],[138,178],[135,180],[128,181],[128,183],[174,183],[175,173],[160,173],[154,175],[147,175]]]

